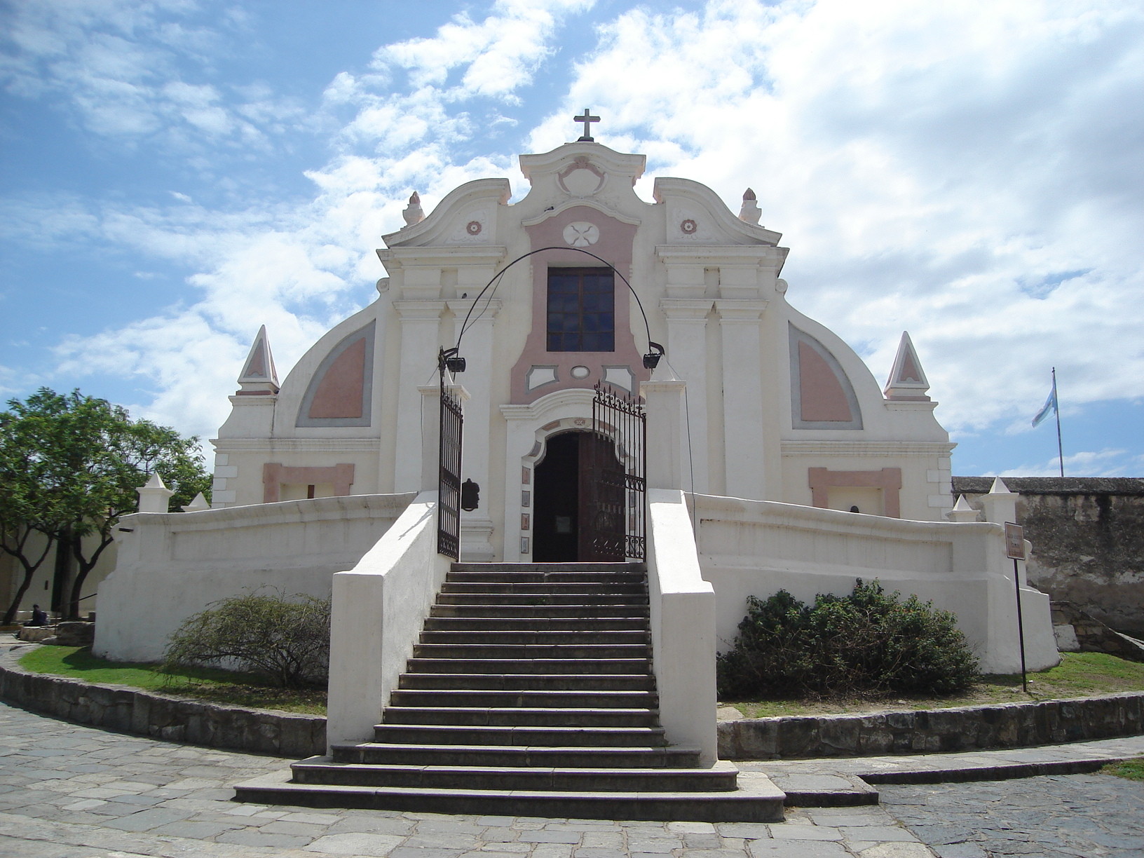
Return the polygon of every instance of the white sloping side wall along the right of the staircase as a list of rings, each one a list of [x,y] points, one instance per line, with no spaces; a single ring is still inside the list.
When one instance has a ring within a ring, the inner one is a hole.
[[[673,745],[718,757],[715,725],[715,591],[699,572],[683,492],[648,498],[648,595],[660,723]]]

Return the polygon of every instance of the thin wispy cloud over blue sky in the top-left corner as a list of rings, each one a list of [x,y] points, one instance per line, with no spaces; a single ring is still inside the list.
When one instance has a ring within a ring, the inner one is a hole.
[[[159,135],[180,150],[219,140],[264,146],[267,134],[305,125],[300,105],[271,100],[264,86],[229,86],[224,96],[183,79],[215,74],[215,55],[244,26],[225,15],[222,29],[189,23],[212,17],[182,0],[15,3],[0,29],[0,84],[51,96],[87,130],[128,143]]]

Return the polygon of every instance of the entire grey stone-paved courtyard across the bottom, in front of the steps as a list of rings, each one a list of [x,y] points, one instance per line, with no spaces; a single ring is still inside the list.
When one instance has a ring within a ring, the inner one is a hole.
[[[0,704],[0,856],[1144,856],[1144,785],[1106,776],[883,786],[882,808],[794,809],[781,825],[439,816],[230,801],[230,784],[285,764],[110,733]]]

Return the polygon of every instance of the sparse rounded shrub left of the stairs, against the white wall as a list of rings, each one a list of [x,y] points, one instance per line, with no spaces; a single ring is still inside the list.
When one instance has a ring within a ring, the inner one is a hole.
[[[283,688],[325,678],[329,599],[248,593],[212,602],[170,636],[164,668],[235,666]]]

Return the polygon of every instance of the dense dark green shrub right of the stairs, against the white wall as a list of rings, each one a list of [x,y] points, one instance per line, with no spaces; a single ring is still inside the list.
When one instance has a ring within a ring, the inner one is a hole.
[[[734,648],[716,660],[726,699],[951,693],[978,677],[956,618],[858,579],[853,593],[808,606],[786,590],[747,598]]]

